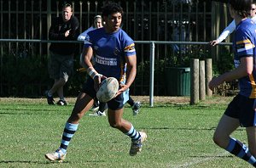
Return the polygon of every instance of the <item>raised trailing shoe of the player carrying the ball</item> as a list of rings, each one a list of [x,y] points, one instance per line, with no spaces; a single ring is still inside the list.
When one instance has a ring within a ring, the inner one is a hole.
[[[134,156],[137,153],[141,152],[143,149],[143,142],[147,138],[147,134],[145,132],[139,132],[141,135],[141,139],[137,141],[131,141],[130,155]]]

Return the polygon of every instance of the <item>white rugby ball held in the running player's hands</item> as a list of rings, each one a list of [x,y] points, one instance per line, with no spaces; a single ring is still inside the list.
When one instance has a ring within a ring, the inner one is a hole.
[[[119,90],[119,81],[114,77],[108,77],[102,81],[96,97],[100,102],[106,103],[111,100]]]

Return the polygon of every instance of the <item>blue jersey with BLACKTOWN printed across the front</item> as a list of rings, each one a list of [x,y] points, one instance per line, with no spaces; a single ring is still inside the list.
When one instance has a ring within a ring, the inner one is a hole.
[[[88,32],[84,47],[89,46],[94,51],[96,71],[103,76],[115,77],[119,81],[125,82],[125,57],[136,55],[131,37],[122,29],[108,34],[102,27]]]

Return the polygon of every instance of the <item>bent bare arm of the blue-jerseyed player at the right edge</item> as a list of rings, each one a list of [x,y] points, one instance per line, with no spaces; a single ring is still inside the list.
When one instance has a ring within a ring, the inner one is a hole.
[[[218,87],[218,85],[222,84],[224,81],[233,81],[244,76],[251,76],[253,73],[253,55],[242,57],[240,61],[241,63],[235,70],[231,70],[221,76],[212,78],[212,81],[209,82],[209,88],[213,90],[214,87]]]

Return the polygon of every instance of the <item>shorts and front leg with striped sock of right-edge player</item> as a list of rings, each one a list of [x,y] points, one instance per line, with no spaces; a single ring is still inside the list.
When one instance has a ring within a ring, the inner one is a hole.
[[[236,155],[242,160],[246,160],[252,165],[256,165],[256,160],[253,155],[248,150],[247,146],[241,143],[234,137],[230,137],[230,134],[236,130],[240,125],[253,126],[253,119],[255,112],[253,109],[253,101],[249,98],[243,97],[241,95],[236,96],[230,103],[228,109],[226,109],[225,114],[218,123],[216,132],[214,133],[213,140],[219,147],[224,148],[231,154]],[[242,114],[242,115],[241,115]],[[253,135],[253,129],[247,127],[247,135]],[[254,130],[255,131],[255,130]],[[255,136],[255,132],[254,132]],[[255,140],[255,137],[254,137]],[[248,141],[253,142],[253,138]],[[255,143],[255,141],[254,141]],[[254,144],[255,145],[255,144]],[[253,148],[253,147],[252,147]],[[254,147],[255,148],[255,147]]]

